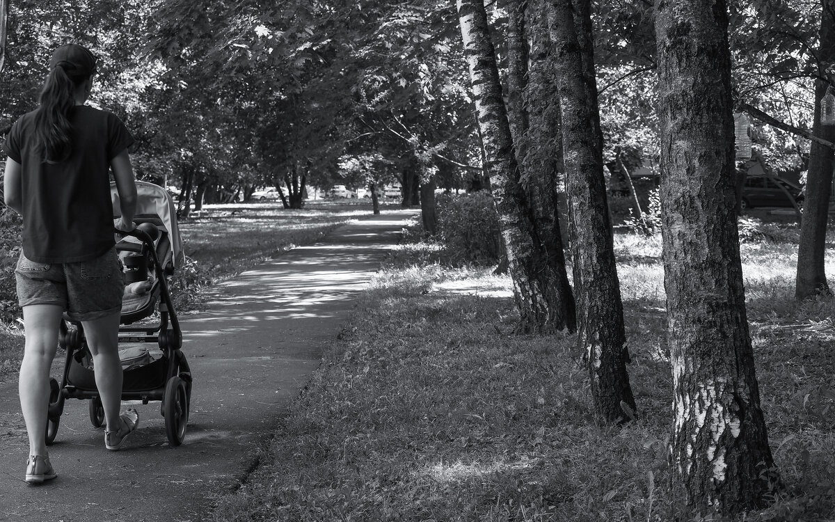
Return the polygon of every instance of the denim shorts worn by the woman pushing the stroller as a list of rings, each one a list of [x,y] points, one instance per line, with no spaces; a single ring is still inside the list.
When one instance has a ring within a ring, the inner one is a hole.
[[[75,321],[93,321],[122,309],[124,275],[115,247],[78,263],[38,263],[21,252],[14,276],[21,307],[58,305]]]

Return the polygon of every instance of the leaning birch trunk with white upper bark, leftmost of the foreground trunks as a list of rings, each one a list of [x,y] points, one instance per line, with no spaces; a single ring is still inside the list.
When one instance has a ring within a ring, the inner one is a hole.
[[[483,0],[458,0],[458,19],[481,129],[485,168],[498,210],[519,308],[517,331],[559,332],[566,327],[565,317],[554,313],[559,308],[549,301],[553,299],[550,295],[555,286],[553,281],[559,281],[559,276],[544,263],[548,254],[537,236],[527,195],[519,182],[519,165]]]

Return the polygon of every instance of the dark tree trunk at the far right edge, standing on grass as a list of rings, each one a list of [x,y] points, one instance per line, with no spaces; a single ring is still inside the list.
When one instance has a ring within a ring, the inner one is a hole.
[[[823,76],[835,64],[835,2],[822,0],[820,47],[817,58],[822,64]],[[827,93],[828,83],[815,82],[815,120],[812,134],[826,141],[835,142],[835,125],[821,124],[821,99]],[[806,200],[803,202],[803,219],[800,225],[800,245],[797,247],[797,283],[795,297],[806,299],[816,294],[832,294],[827,283],[823,261],[826,255],[829,196],[832,194],[832,149],[812,141],[809,150],[809,170],[806,177]]]

